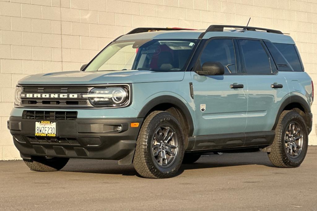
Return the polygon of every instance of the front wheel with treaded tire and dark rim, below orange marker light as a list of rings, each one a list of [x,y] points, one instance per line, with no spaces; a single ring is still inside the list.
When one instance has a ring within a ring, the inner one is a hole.
[[[171,113],[154,111],[144,120],[136,143],[133,166],[146,178],[175,176],[184,157],[184,135]]]

